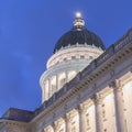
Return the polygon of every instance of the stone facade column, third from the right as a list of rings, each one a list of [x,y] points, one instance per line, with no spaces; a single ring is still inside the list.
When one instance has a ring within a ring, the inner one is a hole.
[[[79,132],[86,132],[86,108],[84,105],[80,105],[78,107],[78,113],[79,113]]]

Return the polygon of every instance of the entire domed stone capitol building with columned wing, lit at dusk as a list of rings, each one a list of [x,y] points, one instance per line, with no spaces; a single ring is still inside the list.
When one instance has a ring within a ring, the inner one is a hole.
[[[106,48],[77,13],[40,85],[42,106],[10,108],[0,132],[132,132],[132,29]]]

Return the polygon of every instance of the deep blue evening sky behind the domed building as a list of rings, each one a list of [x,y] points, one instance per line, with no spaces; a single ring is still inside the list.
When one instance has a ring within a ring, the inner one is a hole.
[[[108,47],[132,26],[132,0],[0,0],[0,116],[41,106],[40,76],[80,11]]]

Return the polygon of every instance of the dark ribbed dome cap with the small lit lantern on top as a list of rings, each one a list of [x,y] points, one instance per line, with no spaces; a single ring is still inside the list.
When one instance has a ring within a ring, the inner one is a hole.
[[[79,23],[78,23],[79,22]],[[84,20],[79,16],[76,18],[74,28],[65,33],[56,43],[54,53],[62,48],[76,46],[76,45],[90,45],[105,50],[101,38],[95,33],[88,31],[85,26]]]

